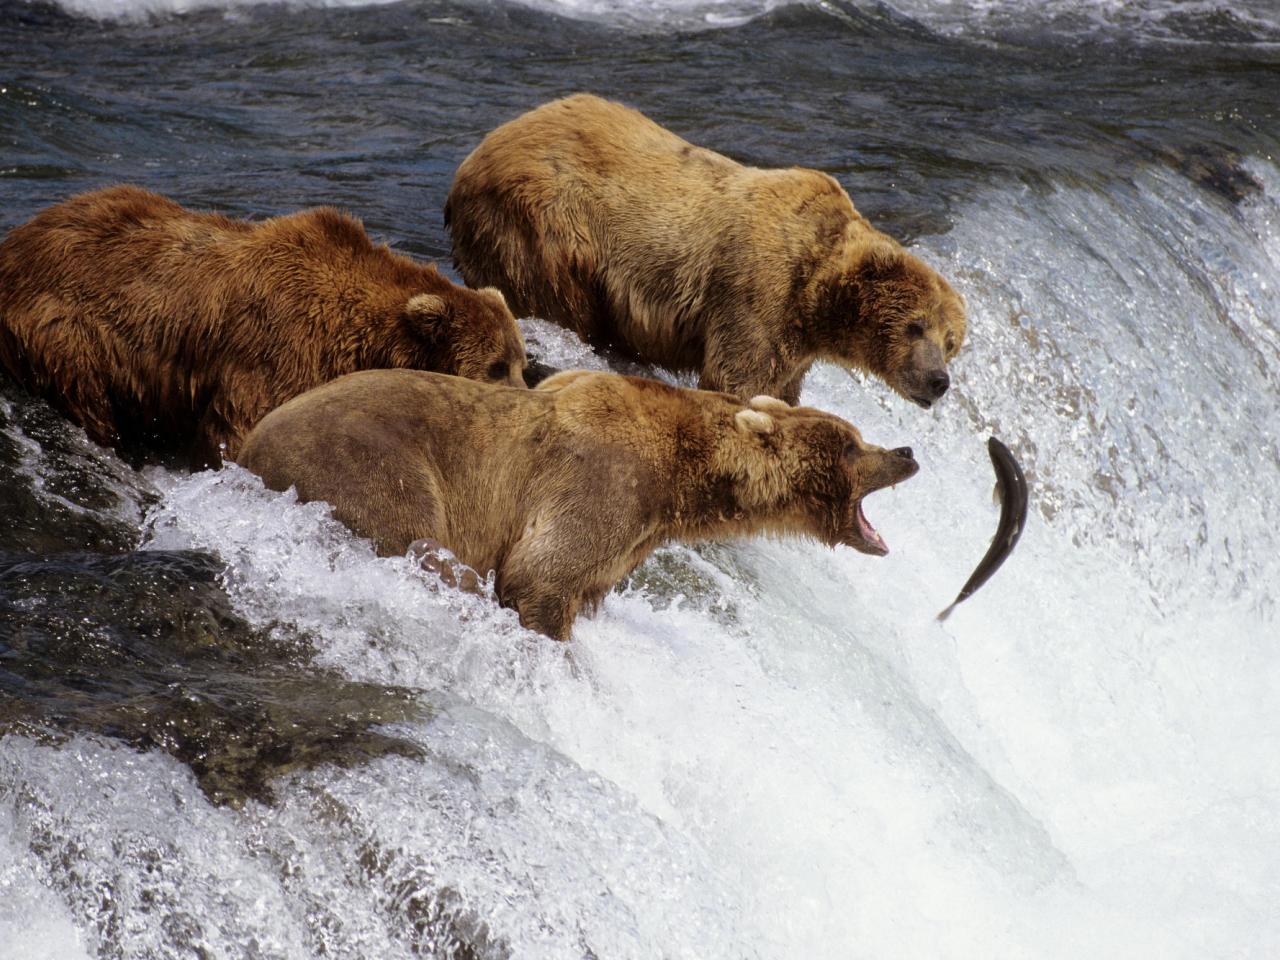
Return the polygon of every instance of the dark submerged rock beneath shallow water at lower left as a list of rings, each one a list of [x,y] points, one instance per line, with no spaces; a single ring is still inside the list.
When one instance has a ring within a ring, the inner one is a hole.
[[[308,666],[305,641],[232,611],[220,575],[193,552],[0,554],[0,735],[160,749],[236,806],[292,769],[417,755],[375,730],[422,716],[416,691]]]

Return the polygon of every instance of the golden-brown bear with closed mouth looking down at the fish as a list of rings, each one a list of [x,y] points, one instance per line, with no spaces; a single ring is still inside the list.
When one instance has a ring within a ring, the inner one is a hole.
[[[472,287],[596,346],[795,403],[815,360],[929,407],[965,337],[947,282],[824,173],[762,170],[579,93],[497,128],[444,207]]]

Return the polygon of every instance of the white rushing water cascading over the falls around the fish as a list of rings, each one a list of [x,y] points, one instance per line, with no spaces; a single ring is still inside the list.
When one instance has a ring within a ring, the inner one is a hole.
[[[1251,173],[1239,206],[1162,172],[972,201],[920,250],[969,302],[954,394],[806,383],[916,449],[868,504],[892,553],[673,547],[567,654],[321,504],[154,472],[146,545],[424,690],[425,759],[236,812],[166,755],[0,740],[0,956],[1275,956],[1280,172]],[[991,431],[1030,522],[938,623],[995,529]]]

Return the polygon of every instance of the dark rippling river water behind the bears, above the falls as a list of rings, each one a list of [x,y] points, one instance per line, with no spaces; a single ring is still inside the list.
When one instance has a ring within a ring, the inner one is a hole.
[[[243,216],[343,205],[442,260],[458,161],[498,123],[579,90],[746,163],[828,170],[904,239],[946,230],[993,182],[1157,164],[1239,196],[1251,182],[1234,161],[1274,151],[1280,128],[1274,44],[979,44],[840,5],[636,36],[503,4],[132,24],[5,3],[0,50],[6,224],[129,180]]]

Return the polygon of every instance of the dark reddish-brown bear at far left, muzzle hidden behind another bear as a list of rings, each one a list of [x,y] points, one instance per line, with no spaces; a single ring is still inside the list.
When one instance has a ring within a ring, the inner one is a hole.
[[[521,385],[525,347],[498,291],[458,287],[337,210],[244,223],[120,186],[0,243],[0,364],[97,443],[202,466],[342,374]]]

